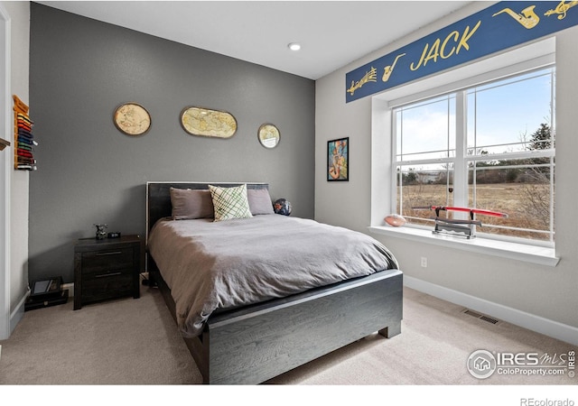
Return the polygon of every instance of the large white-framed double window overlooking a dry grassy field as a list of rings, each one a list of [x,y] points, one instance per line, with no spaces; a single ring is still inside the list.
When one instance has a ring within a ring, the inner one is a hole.
[[[499,211],[508,218],[476,218],[478,236],[553,245],[554,110],[554,66],[394,107],[396,212],[433,228],[435,213],[416,208]]]

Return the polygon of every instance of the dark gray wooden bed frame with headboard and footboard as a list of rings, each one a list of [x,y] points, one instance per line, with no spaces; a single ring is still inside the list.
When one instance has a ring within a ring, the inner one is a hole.
[[[147,182],[147,242],[154,223],[171,216],[171,187],[208,189],[208,185]],[[247,188],[268,189],[268,185],[247,183]],[[176,322],[171,291],[148,252],[146,264],[149,280],[159,287]],[[402,278],[399,270],[386,270],[283,299],[216,311],[199,337],[185,337],[184,341],[203,383],[263,383],[375,332],[387,338],[399,334]]]

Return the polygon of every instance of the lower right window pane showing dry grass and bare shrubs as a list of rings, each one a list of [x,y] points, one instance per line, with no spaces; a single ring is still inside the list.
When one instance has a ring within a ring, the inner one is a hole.
[[[469,204],[508,218],[479,216],[478,233],[554,241],[554,158],[469,163]],[[553,183],[553,182],[552,182]]]

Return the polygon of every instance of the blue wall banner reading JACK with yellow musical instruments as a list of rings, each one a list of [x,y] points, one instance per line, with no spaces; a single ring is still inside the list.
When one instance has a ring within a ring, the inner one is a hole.
[[[499,2],[345,76],[349,103],[578,24],[578,1]]]

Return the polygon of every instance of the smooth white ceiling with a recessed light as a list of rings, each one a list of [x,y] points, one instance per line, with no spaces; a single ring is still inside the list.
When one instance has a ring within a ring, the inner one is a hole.
[[[42,5],[318,79],[466,1],[39,1]],[[287,45],[299,42],[300,51]]]

